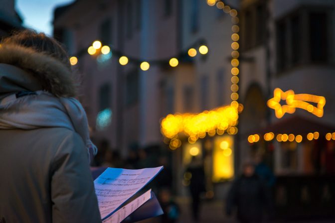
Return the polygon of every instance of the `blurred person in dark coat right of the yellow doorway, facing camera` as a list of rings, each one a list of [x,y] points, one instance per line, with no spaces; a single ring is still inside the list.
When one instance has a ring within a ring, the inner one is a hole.
[[[241,223],[260,223],[269,204],[269,191],[264,181],[255,174],[252,163],[245,163],[243,174],[233,182],[228,192],[226,213],[232,214],[237,208],[237,218]]]

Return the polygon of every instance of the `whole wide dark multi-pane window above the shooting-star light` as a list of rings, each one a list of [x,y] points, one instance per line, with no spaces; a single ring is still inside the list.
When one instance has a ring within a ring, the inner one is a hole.
[[[328,63],[330,23],[327,8],[303,7],[277,21],[277,68]]]

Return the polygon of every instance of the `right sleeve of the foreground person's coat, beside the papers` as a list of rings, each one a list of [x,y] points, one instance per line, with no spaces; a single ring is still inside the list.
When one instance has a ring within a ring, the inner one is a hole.
[[[60,143],[51,167],[53,223],[101,222],[85,145],[71,132]]]

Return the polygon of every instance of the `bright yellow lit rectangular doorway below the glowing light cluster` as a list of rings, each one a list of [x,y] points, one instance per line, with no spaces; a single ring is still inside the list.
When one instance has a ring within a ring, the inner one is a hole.
[[[234,140],[231,135],[218,136],[213,148],[213,182],[234,177]]]

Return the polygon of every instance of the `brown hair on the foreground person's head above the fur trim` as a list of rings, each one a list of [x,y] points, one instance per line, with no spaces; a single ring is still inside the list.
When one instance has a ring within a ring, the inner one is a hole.
[[[36,52],[52,56],[64,64],[71,71],[69,56],[62,44],[57,40],[48,37],[43,32],[37,33],[32,29],[15,31],[11,36],[4,38],[1,43],[15,44],[27,48],[32,48]]]

